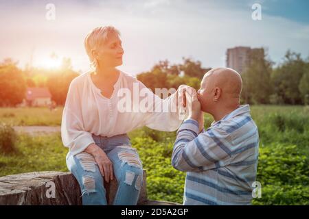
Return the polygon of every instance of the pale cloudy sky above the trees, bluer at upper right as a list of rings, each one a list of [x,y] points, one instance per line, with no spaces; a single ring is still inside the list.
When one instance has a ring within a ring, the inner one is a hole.
[[[48,3],[55,6],[54,20],[46,18]],[[261,5],[260,21],[251,17],[254,3]],[[11,57],[21,68],[52,68],[69,57],[73,69],[84,72],[84,37],[113,25],[124,47],[119,69],[130,75],[183,57],[205,68],[225,66],[227,49],[236,46],[264,47],[279,64],[288,49],[309,56],[308,9],[307,0],[0,0],[0,62]]]

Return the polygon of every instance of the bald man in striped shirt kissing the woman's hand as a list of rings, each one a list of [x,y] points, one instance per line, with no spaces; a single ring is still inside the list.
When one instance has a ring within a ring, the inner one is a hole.
[[[187,172],[184,205],[250,205],[258,164],[258,127],[240,105],[242,79],[231,68],[209,70],[186,93],[189,118],[177,131],[172,166]],[[190,110],[189,109],[189,110]],[[214,117],[205,131],[203,113]]]

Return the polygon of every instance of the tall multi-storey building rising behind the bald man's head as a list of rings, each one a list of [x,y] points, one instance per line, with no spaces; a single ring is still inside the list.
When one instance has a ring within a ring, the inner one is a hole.
[[[235,47],[227,49],[227,68],[233,68],[238,73],[243,73],[251,60],[264,58],[264,49],[251,49],[250,47]]]

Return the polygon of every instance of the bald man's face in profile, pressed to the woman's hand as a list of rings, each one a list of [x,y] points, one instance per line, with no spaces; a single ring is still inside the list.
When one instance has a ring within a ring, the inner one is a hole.
[[[214,104],[212,88],[211,88],[210,74],[206,73],[201,81],[201,88],[197,91],[198,101],[201,103],[201,109],[203,112],[209,113],[209,108]]]

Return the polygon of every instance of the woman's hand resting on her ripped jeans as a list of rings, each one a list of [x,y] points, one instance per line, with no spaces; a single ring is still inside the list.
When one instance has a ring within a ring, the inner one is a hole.
[[[89,144],[89,146],[87,146],[87,149],[85,149],[84,151],[93,155],[93,157],[95,158],[95,162],[97,162],[98,164],[101,175],[102,177],[104,177],[107,183],[110,179],[114,179],[113,163],[98,145]]]

